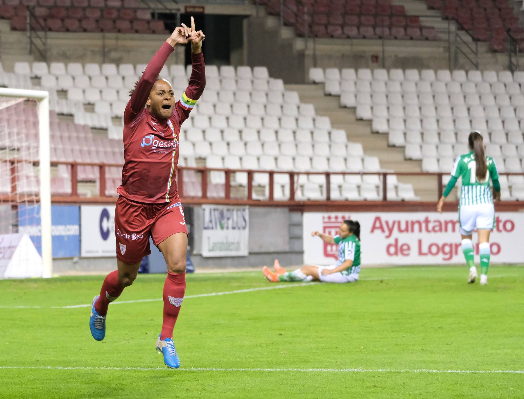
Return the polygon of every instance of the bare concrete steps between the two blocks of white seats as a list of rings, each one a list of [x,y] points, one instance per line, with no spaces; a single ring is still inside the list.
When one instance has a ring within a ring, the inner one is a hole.
[[[366,156],[377,157],[381,168],[395,172],[420,172],[421,161],[404,159],[404,149],[388,146],[387,135],[371,132],[371,122],[357,120],[354,108],[341,108],[339,96],[324,95],[324,86],[318,84],[289,84],[286,90],[297,91],[301,103],[313,104],[317,115],[328,116],[334,129],[344,129],[348,141],[362,144]],[[423,201],[436,201],[436,178],[427,176],[399,176],[401,183],[413,185],[416,195]]]

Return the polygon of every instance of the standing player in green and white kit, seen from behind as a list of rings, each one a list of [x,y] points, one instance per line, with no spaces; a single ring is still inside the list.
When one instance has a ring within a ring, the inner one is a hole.
[[[493,202],[500,198],[500,183],[498,181],[497,165],[491,157],[484,154],[484,141],[478,131],[474,131],[467,139],[470,152],[455,159],[451,172],[451,180],[447,183],[444,194],[439,200],[436,210],[442,213],[444,199],[453,190],[459,176],[462,177],[462,191],[459,202],[459,223],[462,237],[462,251],[466,263],[470,267],[468,283],[474,283],[477,269],[473,257],[473,229],[478,230],[478,251],[481,255],[481,284],[488,283],[489,267],[489,234],[495,223],[495,207]],[[489,178],[493,181],[495,197],[489,187]]]

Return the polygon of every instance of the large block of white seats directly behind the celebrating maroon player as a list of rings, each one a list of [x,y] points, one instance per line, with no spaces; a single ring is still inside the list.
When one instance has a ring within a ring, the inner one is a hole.
[[[16,63],[17,76],[25,76],[27,81],[40,77],[44,90],[50,92],[54,110],[51,159],[122,164],[122,121],[115,125],[112,118],[122,117],[128,90],[144,68],[145,65],[132,64]],[[179,95],[187,86],[190,71],[181,65],[170,65],[165,66],[162,75],[170,78]],[[265,67],[219,69],[206,65],[206,75],[206,90],[182,125],[180,165],[303,172],[381,171],[378,159],[366,157],[359,143],[347,142],[344,130],[333,129],[329,118],[315,114],[313,105],[300,103],[298,94],[286,91],[281,80],[269,78]],[[55,84],[67,99],[58,98]],[[237,90],[231,91],[234,86]],[[93,105],[95,112],[86,112],[84,105]],[[11,108],[2,112],[13,113]],[[74,124],[61,122],[57,114],[73,115]],[[6,118],[0,113],[0,120]],[[9,118],[16,116],[10,114]],[[36,115],[27,123],[36,123]],[[107,129],[107,137],[93,135],[91,128]],[[107,168],[107,195],[116,195],[120,174],[119,168]],[[98,184],[99,171],[81,166],[78,178]],[[211,173],[208,195],[223,196],[224,182],[223,172]],[[255,173],[254,198],[267,198],[268,182],[266,173]],[[325,198],[324,175],[299,175],[298,182],[297,199]],[[247,175],[233,173],[232,183],[245,187]],[[396,179],[391,180],[390,199],[417,199],[412,188],[397,194],[397,186]],[[265,194],[260,194],[257,187]],[[289,175],[275,175],[276,199],[289,198],[289,187]],[[330,194],[334,198],[373,201],[381,199],[380,190],[378,175],[339,175],[332,177]],[[53,176],[52,192],[71,192],[68,168],[61,167],[60,173]],[[201,195],[198,174],[184,174],[184,195]]]

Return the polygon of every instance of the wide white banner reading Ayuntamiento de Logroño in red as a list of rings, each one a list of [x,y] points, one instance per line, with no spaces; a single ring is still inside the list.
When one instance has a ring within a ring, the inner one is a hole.
[[[524,213],[495,212],[495,228],[490,237],[492,262],[521,263]],[[305,264],[331,264],[337,246],[324,243],[311,232],[319,230],[335,236],[345,219],[361,225],[362,264],[442,264],[463,263],[459,221],[456,212],[439,214],[402,213],[304,213],[303,246]],[[476,232],[473,242],[477,242]],[[478,243],[474,245],[478,256]]]

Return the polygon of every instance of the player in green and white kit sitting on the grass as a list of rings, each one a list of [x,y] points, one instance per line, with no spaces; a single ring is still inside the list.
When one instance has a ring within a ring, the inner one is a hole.
[[[273,283],[279,281],[312,281],[326,283],[354,283],[360,272],[360,224],[358,221],[344,220],[335,237],[313,231],[312,236],[319,236],[324,242],[339,246],[339,259],[328,267],[307,265],[293,272],[286,272],[275,260],[275,272],[264,266],[264,275]]]

